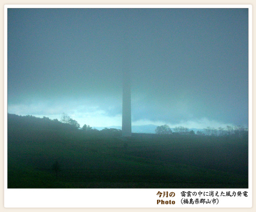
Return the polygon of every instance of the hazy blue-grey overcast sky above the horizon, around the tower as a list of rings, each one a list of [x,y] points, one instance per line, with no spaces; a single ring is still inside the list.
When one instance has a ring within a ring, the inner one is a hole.
[[[8,112],[121,125],[248,126],[248,9],[8,9]]]

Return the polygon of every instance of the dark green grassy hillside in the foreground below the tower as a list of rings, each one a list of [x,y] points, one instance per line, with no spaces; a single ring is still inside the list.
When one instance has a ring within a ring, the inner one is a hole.
[[[9,114],[7,150],[8,188],[248,187],[247,136],[125,139]]]

